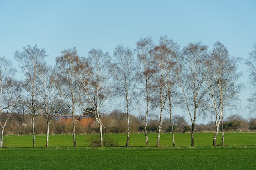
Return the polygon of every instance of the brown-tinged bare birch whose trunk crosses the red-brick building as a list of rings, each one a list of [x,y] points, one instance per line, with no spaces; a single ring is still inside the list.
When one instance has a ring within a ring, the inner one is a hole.
[[[73,146],[76,147],[76,113],[82,102],[82,88],[80,85],[81,61],[76,48],[61,51],[62,55],[56,57],[58,71],[58,90],[67,102],[72,112]]]

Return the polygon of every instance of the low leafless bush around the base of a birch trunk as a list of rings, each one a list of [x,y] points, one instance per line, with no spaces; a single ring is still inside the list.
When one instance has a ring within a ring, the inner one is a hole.
[[[100,135],[99,134],[92,134],[89,137],[89,142],[92,147],[99,147],[100,145]],[[108,136],[108,134],[103,135],[103,146],[118,146],[117,139],[113,139]]]

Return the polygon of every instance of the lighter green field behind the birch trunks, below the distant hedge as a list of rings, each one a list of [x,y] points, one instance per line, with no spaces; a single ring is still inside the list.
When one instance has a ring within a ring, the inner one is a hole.
[[[89,146],[90,136],[76,135],[76,144],[78,147]],[[108,137],[118,141],[119,146],[125,146],[126,134],[109,134]],[[157,134],[148,134],[149,146],[156,146]],[[218,135],[217,144],[220,144],[221,134]],[[32,147],[33,139],[31,135],[9,135],[4,136],[4,147]],[[46,135],[36,135],[36,147],[44,147]],[[190,133],[175,134],[175,143],[177,146],[190,146]],[[225,144],[229,146],[247,146],[256,145],[256,133],[225,133]],[[161,146],[172,146],[171,134],[161,134]],[[213,133],[195,133],[195,146],[212,146]],[[72,135],[50,135],[49,147],[72,147]],[[144,134],[130,134],[130,146],[145,146]]]

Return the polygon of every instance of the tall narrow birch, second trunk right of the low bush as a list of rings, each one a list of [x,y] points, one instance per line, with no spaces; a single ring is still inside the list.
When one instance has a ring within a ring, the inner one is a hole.
[[[153,55],[151,51],[154,48],[154,43],[151,37],[140,38],[137,42],[137,60],[139,62],[139,77],[141,78],[142,86],[142,96],[144,96],[146,100],[146,111],[141,115],[144,117],[143,125],[144,125],[144,133],[146,139],[146,146],[148,146],[148,133],[147,133],[147,124],[148,124],[148,113],[150,111],[150,88],[152,82],[152,73],[153,73]],[[144,101],[144,100],[143,100]],[[141,101],[137,102],[139,113],[143,112],[141,110]]]

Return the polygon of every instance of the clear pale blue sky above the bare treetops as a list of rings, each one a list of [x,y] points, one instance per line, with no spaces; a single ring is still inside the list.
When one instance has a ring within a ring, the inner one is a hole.
[[[147,36],[157,44],[161,35],[181,48],[201,41],[211,49],[220,41],[231,56],[246,60],[256,43],[256,1],[0,0],[0,57],[13,62],[27,44],[44,48],[53,65],[64,49],[76,47],[84,57],[92,48],[112,55],[118,44],[135,48]],[[247,86],[246,70],[241,64]],[[245,90],[237,112],[245,118],[248,97]]]

